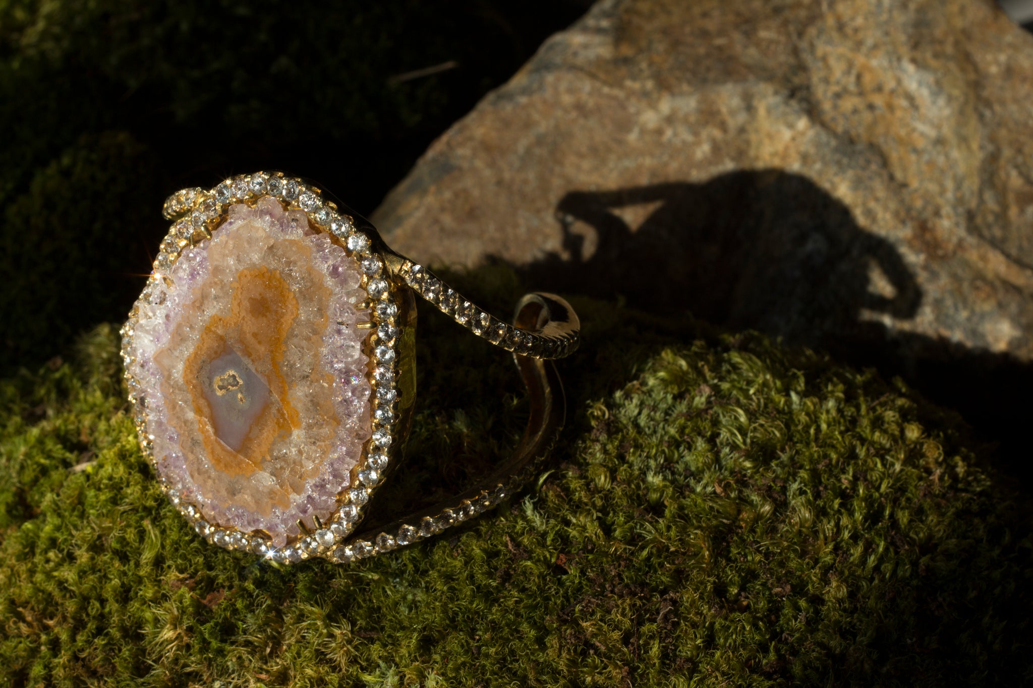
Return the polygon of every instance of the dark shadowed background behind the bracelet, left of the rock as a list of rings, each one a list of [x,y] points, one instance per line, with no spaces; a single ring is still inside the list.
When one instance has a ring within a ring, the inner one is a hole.
[[[368,214],[590,4],[0,1],[0,375],[125,319],[168,193],[283,169]]]

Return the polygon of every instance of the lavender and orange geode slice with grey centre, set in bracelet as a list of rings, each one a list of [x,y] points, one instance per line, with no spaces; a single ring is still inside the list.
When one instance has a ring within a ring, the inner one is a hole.
[[[129,373],[158,472],[213,524],[330,521],[370,437],[361,268],[303,210],[229,208],[137,303]]]

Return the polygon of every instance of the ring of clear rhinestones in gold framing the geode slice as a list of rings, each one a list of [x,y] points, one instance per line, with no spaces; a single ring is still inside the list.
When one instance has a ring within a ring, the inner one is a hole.
[[[366,556],[365,548],[373,553],[380,543],[344,542],[355,530],[362,520],[365,507],[390,461],[388,448],[395,437],[398,416],[399,390],[396,387],[398,339],[401,335],[399,308],[395,292],[400,285],[392,282],[383,257],[373,250],[373,241],[364,231],[357,229],[353,218],[338,211],[337,205],[322,198],[319,189],[302,179],[285,176],[281,172],[255,172],[231,176],[211,190],[191,188],[180,191],[165,201],[162,215],[176,222],[161,241],[160,252],[154,261],[148,286],[129,313],[129,319],[122,327],[122,359],[125,365],[125,381],[132,404],[132,417],[136,425],[140,451],[152,466],[154,459],[153,435],[148,432],[147,398],[138,381],[128,372],[132,362],[132,337],[139,313],[138,303],[147,299],[150,286],[158,282],[169,282],[168,272],[180,253],[186,247],[197,245],[212,237],[213,232],[227,219],[229,206],[237,203],[254,205],[259,198],[270,196],[287,209],[301,209],[317,231],[336,237],[345,253],[355,259],[362,272],[362,288],[368,298],[359,309],[370,313],[370,321],[361,326],[371,329],[366,338],[369,368],[367,380],[371,387],[370,422],[371,436],[363,448],[358,463],[352,468],[350,482],[338,493],[338,507],[328,523],[315,519],[315,529],[304,523],[302,535],[296,542],[282,548],[273,548],[268,535],[260,532],[242,532],[210,522],[200,510],[182,499],[177,491],[158,473],[159,483],[169,501],[191,523],[205,539],[226,550],[239,550],[257,554],[265,559],[292,564],[312,557],[323,557],[334,561],[347,561],[342,551],[357,548],[359,556]],[[402,287],[404,288],[404,287]],[[408,531],[406,531],[408,532]],[[418,533],[417,533],[418,535]],[[379,538],[378,538],[379,539]],[[400,542],[401,540],[401,542]],[[394,549],[405,544],[405,533],[393,536]],[[386,545],[386,543],[383,543]]]

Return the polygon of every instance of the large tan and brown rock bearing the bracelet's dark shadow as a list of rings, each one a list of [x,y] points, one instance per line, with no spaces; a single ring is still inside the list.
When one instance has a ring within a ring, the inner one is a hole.
[[[1031,86],[1033,36],[989,0],[603,0],[374,221],[417,260],[788,341],[1026,361]]]

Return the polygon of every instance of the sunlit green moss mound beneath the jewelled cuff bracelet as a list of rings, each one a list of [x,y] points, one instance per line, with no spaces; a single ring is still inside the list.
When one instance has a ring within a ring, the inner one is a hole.
[[[511,303],[509,273],[475,277],[457,275]],[[568,427],[537,484],[356,565],[202,544],[135,447],[111,329],[5,382],[2,683],[1029,681],[1029,530],[953,416],[756,335],[574,305]],[[506,357],[420,316],[403,491],[461,483],[520,426]]]

